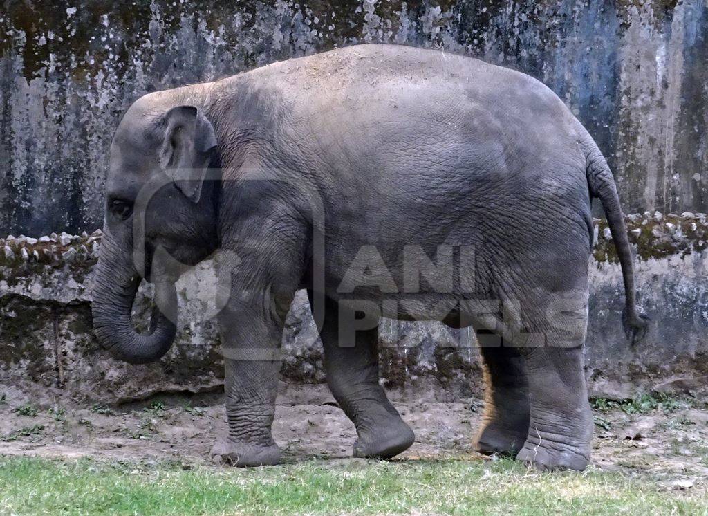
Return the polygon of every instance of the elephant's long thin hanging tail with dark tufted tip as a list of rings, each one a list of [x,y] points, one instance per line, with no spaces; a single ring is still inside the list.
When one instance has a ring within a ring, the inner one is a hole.
[[[646,327],[649,326],[649,317],[637,309],[636,292],[634,290],[634,265],[632,264],[632,248],[629,246],[627,238],[627,227],[624,225],[624,214],[622,206],[619,205],[619,196],[615,186],[615,178],[607,165],[597,144],[590,135],[583,129],[586,137],[583,147],[586,153],[586,174],[588,177],[588,187],[590,195],[598,197],[603,203],[607,226],[610,227],[612,241],[615,242],[619,265],[622,267],[622,277],[624,279],[625,307],[622,311],[622,326],[624,333],[632,340],[632,344],[644,338]]]

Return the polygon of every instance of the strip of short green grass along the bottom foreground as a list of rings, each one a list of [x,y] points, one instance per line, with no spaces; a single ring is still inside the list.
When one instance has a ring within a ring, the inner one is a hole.
[[[509,460],[305,461],[193,468],[0,457],[0,514],[705,514],[702,489]],[[700,491],[700,492],[698,492]]]

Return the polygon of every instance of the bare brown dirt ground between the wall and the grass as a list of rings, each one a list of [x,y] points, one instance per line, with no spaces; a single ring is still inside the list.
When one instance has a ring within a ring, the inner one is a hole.
[[[285,461],[350,457],[353,425],[325,386],[281,391],[273,434]],[[416,443],[400,459],[483,459],[471,448],[481,400],[440,403],[418,398],[394,404],[416,432]],[[688,400],[640,413],[629,408],[595,410],[592,467],[646,476],[668,488],[706,489],[708,407]],[[0,454],[207,464],[212,443],[225,430],[217,395],[169,396],[111,408],[0,403]]]

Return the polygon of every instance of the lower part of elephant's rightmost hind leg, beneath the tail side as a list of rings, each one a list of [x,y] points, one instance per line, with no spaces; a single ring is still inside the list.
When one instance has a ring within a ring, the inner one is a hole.
[[[577,469],[590,461],[593,413],[583,374],[583,346],[523,348],[531,419],[517,458],[538,469]]]

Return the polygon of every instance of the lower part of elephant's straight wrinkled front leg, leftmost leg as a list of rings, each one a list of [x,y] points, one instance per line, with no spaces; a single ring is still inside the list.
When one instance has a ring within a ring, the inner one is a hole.
[[[287,309],[263,314],[261,302],[238,300],[219,316],[224,354],[224,394],[228,435],[212,447],[219,464],[277,464],[280,449],[271,425],[280,370],[280,340]],[[289,303],[288,303],[289,306]],[[265,309],[265,312],[270,310]]]

